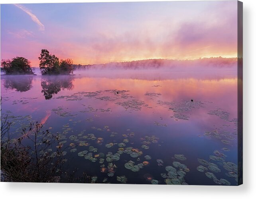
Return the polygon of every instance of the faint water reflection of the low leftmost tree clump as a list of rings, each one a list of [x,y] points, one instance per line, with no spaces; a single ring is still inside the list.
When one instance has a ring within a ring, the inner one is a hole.
[[[33,75],[5,76],[4,87],[18,92],[26,92],[32,88]]]

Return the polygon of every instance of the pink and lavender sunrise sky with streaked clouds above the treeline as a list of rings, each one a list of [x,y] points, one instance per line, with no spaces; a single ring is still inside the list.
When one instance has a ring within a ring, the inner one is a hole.
[[[1,4],[1,59],[38,67],[41,49],[74,64],[237,57],[237,1]]]

